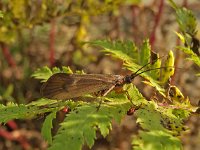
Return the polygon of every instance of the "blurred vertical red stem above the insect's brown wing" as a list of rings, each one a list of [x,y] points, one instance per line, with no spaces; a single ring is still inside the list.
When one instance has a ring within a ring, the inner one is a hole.
[[[55,29],[56,29],[55,20],[53,19],[51,21],[51,30],[49,34],[49,50],[50,50],[49,63],[51,67],[55,65]]]

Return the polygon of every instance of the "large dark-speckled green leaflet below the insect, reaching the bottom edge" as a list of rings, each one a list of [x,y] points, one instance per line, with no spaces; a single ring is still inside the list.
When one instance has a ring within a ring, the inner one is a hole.
[[[112,120],[121,120],[131,105],[125,97],[114,98],[114,101],[109,98],[109,100],[109,103],[102,103],[99,110],[97,110],[98,103],[89,103],[68,114],[49,149],[67,147],[79,150],[85,142],[91,148],[96,139],[97,129],[104,137],[108,135]]]

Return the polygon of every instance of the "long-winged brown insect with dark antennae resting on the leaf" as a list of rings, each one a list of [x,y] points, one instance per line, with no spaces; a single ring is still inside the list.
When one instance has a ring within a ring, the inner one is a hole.
[[[106,96],[114,88],[122,87],[124,84],[131,83],[136,76],[144,72],[165,68],[153,68],[139,72],[147,65],[148,64],[138,69],[137,72],[126,76],[56,73],[43,84],[41,87],[41,93],[43,97],[60,100],[76,98],[85,94],[97,92],[100,92],[101,96]]]

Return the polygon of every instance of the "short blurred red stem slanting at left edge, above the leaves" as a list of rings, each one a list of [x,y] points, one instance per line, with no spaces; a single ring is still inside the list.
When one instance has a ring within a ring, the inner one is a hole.
[[[5,44],[5,43],[0,43],[0,46],[1,46],[1,49],[2,49],[2,53],[7,61],[7,63],[9,64],[9,66],[15,68],[17,65],[16,65],[16,62],[14,60],[14,58],[12,57],[10,51],[9,51],[9,48],[8,46]]]

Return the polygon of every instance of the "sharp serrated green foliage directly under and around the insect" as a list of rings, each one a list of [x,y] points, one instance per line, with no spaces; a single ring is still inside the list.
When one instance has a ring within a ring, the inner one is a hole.
[[[130,41],[93,41],[90,44],[101,46],[104,53],[121,59],[124,66],[133,73],[141,68],[140,63],[138,63],[139,60],[137,60],[138,56],[150,54],[150,46],[147,40],[143,43],[143,52],[139,52],[135,44]],[[148,57],[140,56],[140,58],[144,58],[149,62],[151,56]],[[149,69],[155,67],[154,65],[148,64],[146,67]],[[170,63],[166,66],[171,65]],[[143,69],[146,70],[146,67]],[[143,69],[141,71],[144,71]],[[68,67],[62,69],[52,68],[52,70],[43,67],[36,70],[32,76],[45,82],[52,74],[58,72],[72,73]],[[144,72],[141,76],[146,79],[146,83],[157,89],[164,97],[167,97],[165,89],[152,77],[151,73]],[[83,99],[80,98],[80,101],[74,103],[72,101],[40,99],[27,105],[2,105],[0,113],[4,115],[0,116],[0,122],[6,123],[11,119],[33,118],[49,113],[42,127],[42,135],[50,144],[49,149],[68,147],[69,149],[78,150],[81,149],[83,144],[87,144],[90,148],[93,146],[97,130],[104,137],[107,136],[109,130],[112,129],[112,120],[120,122],[129,108],[135,107],[137,108],[135,113],[137,123],[144,129],[139,134],[141,138],[135,140],[136,148],[151,147],[158,149],[161,147],[159,142],[162,142],[165,148],[181,148],[180,140],[176,136],[185,130],[183,123],[192,112],[189,108],[190,105],[179,105],[177,108],[171,107],[171,105],[158,105],[153,100],[147,101],[133,84],[124,85],[123,88],[127,91],[127,94],[110,93],[105,98],[101,98],[106,99],[106,102],[103,102],[99,109],[97,109],[99,101],[95,97],[93,97],[94,101],[92,103],[81,102]],[[56,117],[56,112],[66,105],[70,106],[72,111],[66,115],[64,122],[60,124],[58,133],[52,140],[52,121]]]

